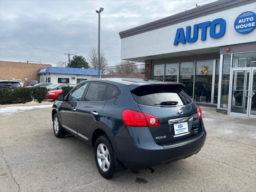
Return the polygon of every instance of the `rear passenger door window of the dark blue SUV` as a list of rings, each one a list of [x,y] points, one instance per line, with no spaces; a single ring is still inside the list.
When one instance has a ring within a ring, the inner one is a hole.
[[[103,101],[105,88],[106,88],[105,84],[91,83],[86,92],[84,101],[94,101],[94,102]]]

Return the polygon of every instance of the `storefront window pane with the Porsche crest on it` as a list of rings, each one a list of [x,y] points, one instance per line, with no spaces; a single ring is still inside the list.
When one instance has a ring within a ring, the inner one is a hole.
[[[196,62],[194,101],[211,102],[213,60]]]

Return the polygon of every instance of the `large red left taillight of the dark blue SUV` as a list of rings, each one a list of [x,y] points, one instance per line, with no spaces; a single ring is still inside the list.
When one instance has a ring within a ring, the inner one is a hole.
[[[160,125],[156,117],[132,110],[124,110],[122,112],[122,120],[125,126],[132,127],[147,127]]]

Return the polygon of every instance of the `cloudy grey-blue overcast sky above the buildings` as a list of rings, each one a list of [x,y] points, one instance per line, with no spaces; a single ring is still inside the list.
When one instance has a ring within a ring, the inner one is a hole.
[[[103,7],[101,45],[109,64],[116,65],[121,47],[118,32],[213,1],[0,0],[0,60],[54,66],[67,61],[64,53],[68,52],[87,58],[90,49],[98,46],[95,10]]]

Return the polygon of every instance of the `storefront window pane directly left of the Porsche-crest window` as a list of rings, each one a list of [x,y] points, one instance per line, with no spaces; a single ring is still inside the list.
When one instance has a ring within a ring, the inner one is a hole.
[[[193,97],[194,86],[194,62],[180,63],[179,83],[186,85],[184,91],[190,98]]]

